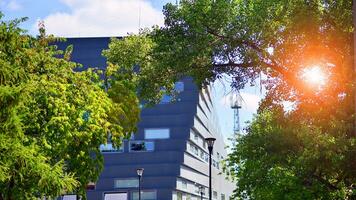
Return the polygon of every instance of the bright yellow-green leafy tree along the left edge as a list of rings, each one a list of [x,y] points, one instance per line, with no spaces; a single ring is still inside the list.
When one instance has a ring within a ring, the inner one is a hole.
[[[86,199],[103,168],[100,144],[110,134],[118,146],[136,130],[134,84],[109,77],[106,87],[100,72],[76,72],[71,47],[49,45],[56,39],[43,27],[26,35],[23,20],[0,24],[0,199]]]

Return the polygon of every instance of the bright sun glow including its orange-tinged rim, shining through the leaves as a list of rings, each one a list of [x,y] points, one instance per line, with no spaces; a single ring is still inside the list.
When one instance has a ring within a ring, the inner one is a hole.
[[[300,78],[307,86],[322,90],[328,82],[329,75],[322,67],[313,65],[302,69]]]

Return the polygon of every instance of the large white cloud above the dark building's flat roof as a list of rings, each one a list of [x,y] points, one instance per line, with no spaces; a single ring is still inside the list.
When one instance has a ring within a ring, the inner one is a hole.
[[[47,33],[56,36],[125,36],[137,33],[139,24],[141,28],[163,24],[161,11],[144,0],[61,1],[70,12],[56,12],[43,19]]]

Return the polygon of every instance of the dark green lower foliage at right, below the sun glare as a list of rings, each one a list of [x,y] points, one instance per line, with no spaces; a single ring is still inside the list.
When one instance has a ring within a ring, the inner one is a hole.
[[[236,199],[352,199],[355,140],[298,118],[264,111],[236,140],[225,166]]]

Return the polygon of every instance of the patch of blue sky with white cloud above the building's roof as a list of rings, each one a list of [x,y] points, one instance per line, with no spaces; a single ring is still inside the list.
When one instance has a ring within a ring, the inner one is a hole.
[[[28,17],[22,27],[31,34],[44,20],[58,36],[117,36],[135,33],[139,24],[163,24],[161,10],[168,2],[175,0],[0,0],[0,10],[4,19]]]

